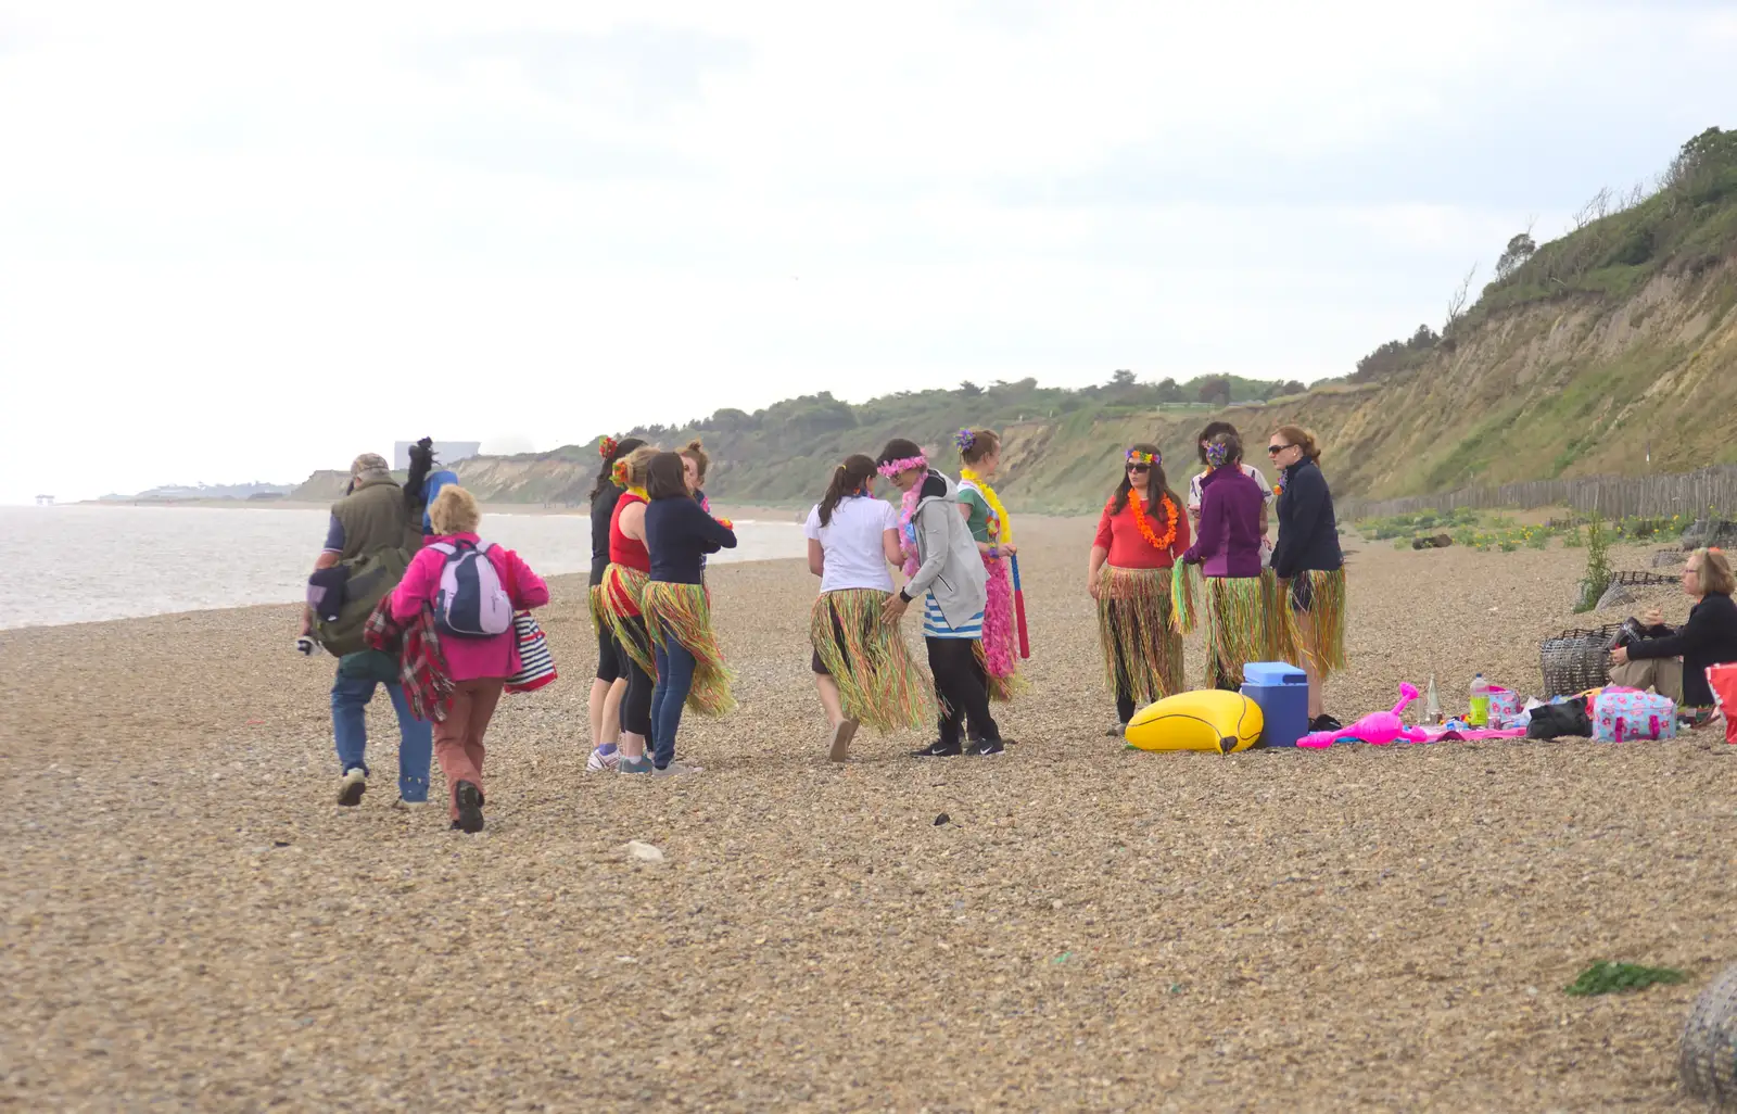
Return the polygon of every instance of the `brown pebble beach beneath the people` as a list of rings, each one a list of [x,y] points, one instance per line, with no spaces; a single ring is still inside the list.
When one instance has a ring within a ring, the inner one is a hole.
[[[334,803],[295,607],[0,631],[0,1107],[1701,1109],[1676,1039],[1737,959],[1737,747],[1124,749],[1093,525],[1016,520],[1001,758],[829,763],[787,560],[709,574],[742,707],[683,723],[703,772],[587,777],[585,582],[552,579],[561,680],[502,702],[478,836],[393,808],[384,699]],[[1478,669],[1536,692],[1541,638],[1622,617],[1570,613],[1579,549],[1346,546],[1346,723],[1431,674],[1450,709]],[[1688,980],[1565,996],[1596,959]]]

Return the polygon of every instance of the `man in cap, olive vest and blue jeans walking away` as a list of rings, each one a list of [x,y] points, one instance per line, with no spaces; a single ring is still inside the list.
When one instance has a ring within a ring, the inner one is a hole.
[[[398,803],[429,799],[433,725],[412,713],[398,662],[363,643],[368,612],[393,591],[420,544],[420,523],[386,459],[372,452],[358,455],[349,466],[344,497],[332,504],[325,547],[309,579],[309,596],[328,603],[311,601],[302,610],[297,640],[304,655],[325,647],[339,659],[332,681],[332,737],[339,763],[337,803],[347,808],[360,805],[368,791],[368,702],[380,685],[398,716]]]

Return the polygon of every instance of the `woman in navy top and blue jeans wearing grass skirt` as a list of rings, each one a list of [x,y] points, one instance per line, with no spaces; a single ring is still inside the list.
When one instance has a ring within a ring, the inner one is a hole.
[[[681,454],[660,452],[646,467],[646,549],[651,577],[644,612],[657,653],[657,690],[651,695],[651,763],[658,773],[693,773],[698,766],[676,765],[676,732],[681,709],[702,716],[735,711],[724,652],[712,634],[712,607],[700,579],[705,554],[735,549],[736,534],[693,501],[683,474]],[[625,763],[622,765],[625,770]],[[643,772],[636,766],[636,773]]]

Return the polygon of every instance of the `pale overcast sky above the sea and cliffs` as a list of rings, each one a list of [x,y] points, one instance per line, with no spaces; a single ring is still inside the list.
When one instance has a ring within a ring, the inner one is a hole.
[[[0,0],[0,502],[1337,375],[1737,125],[1737,3]]]

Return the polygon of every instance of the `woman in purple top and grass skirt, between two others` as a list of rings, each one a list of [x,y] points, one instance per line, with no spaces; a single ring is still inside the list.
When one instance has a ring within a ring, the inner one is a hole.
[[[1270,645],[1266,591],[1261,580],[1261,520],[1266,494],[1242,469],[1242,440],[1216,433],[1205,447],[1200,520],[1183,565],[1200,565],[1205,579],[1205,686],[1242,688],[1242,667],[1261,660]],[[1179,608],[1178,608],[1179,610]],[[1178,624],[1185,633],[1188,615]]]

